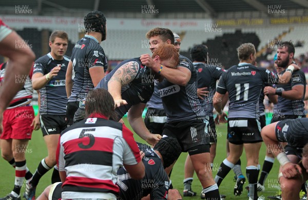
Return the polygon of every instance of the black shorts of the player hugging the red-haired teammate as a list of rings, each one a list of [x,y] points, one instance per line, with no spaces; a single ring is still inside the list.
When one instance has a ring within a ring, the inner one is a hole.
[[[166,135],[178,139],[182,152],[187,152],[192,147],[209,144],[207,124],[207,120],[166,123],[163,136]]]

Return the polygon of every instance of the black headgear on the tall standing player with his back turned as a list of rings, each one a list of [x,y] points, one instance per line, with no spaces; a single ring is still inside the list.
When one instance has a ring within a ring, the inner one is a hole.
[[[106,18],[101,11],[89,12],[84,18],[86,32],[102,33],[102,41],[106,39]]]

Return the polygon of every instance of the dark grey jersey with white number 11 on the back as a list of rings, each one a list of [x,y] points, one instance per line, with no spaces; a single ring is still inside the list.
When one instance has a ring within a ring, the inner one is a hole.
[[[220,94],[229,94],[228,118],[259,119],[259,98],[264,83],[278,82],[278,76],[264,68],[248,63],[240,63],[223,74],[217,86]]]

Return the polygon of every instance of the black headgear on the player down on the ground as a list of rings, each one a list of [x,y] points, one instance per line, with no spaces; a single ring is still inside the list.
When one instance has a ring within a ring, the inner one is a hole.
[[[164,137],[154,147],[162,155],[164,161],[164,168],[169,167],[180,156],[182,148],[177,139],[172,137]]]

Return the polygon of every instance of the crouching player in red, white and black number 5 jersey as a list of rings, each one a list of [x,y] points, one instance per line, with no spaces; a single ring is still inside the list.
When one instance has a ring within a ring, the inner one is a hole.
[[[61,197],[116,200],[120,167],[124,166],[132,179],[144,177],[142,152],[124,124],[109,120],[115,113],[114,100],[107,90],[90,91],[85,107],[86,119],[65,129],[57,147]]]

